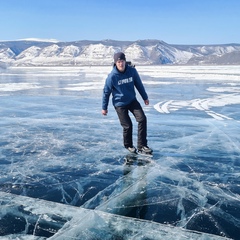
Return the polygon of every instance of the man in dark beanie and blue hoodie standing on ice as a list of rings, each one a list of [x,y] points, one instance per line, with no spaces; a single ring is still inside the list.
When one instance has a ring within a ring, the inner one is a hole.
[[[148,105],[148,95],[137,70],[126,64],[124,53],[115,53],[114,67],[108,75],[103,89],[102,114],[107,115],[109,97],[112,94],[112,103],[123,127],[124,147],[131,153],[137,153],[137,149],[133,146],[133,124],[129,116],[130,111],[138,122],[138,151],[151,154],[152,149],[147,146],[147,118],[136,99],[135,87],[143,98],[145,105]]]

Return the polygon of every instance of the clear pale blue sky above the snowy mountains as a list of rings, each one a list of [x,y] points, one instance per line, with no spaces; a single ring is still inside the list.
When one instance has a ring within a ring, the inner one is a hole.
[[[239,0],[1,0],[0,40],[240,43]]]

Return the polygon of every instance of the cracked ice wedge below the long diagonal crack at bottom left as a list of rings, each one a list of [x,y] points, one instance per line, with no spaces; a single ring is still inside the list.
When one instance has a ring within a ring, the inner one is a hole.
[[[18,234],[5,239],[224,239],[98,210],[1,193],[1,227]],[[3,212],[3,213],[2,213]],[[34,238],[30,237],[31,235]],[[29,235],[29,236],[28,236]],[[51,237],[51,235],[53,235]],[[26,238],[28,236],[28,238]]]

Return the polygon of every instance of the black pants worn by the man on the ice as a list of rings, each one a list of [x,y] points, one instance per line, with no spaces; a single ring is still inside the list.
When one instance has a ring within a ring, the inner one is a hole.
[[[124,147],[133,146],[133,124],[129,116],[129,111],[134,115],[138,122],[138,149],[147,146],[147,118],[143,112],[140,103],[134,100],[129,105],[115,107],[121,126],[123,127],[123,144]]]

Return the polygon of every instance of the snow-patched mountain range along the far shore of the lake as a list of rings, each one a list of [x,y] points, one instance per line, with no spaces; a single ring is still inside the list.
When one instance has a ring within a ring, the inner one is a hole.
[[[174,45],[161,40],[57,42],[25,39],[0,42],[0,63],[10,66],[111,65],[123,51],[136,65],[240,64],[240,44]]]

